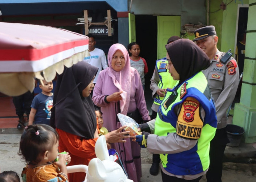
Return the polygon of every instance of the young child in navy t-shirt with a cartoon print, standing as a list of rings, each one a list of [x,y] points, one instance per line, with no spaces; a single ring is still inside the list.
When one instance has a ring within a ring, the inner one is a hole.
[[[29,125],[35,124],[50,124],[50,116],[53,103],[53,83],[42,80],[39,82],[39,88],[42,92],[36,95],[31,104],[29,114]]]

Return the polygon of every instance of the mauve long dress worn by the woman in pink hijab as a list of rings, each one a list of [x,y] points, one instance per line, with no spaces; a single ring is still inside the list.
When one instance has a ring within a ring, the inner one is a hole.
[[[134,68],[131,68],[134,69]],[[103,113],[103,126],[109,131],[116,130],[121,127],[121,124],[116,119],[117,103],[106,103],[104,98],[106,95],[111,95],[118,92],[118,88],[114,85],[112,78],[108,75],[106,70],[99,73],[97,84],[93,91],[93,102],[95,105],[101,107]],[[131,75],[131,96],[128,107],[128,113],[139,109],[143,120],[149,120],[146,101],[144,98],[144,91],[140,80],[140,75],[137,70]],[[140,146],[127,139],[125,143],[112,143],[112,148],[120,155],[124,168],[128,173],[128,178],[134,182],[140,182],[141,173],[141,159],[140,159]]]

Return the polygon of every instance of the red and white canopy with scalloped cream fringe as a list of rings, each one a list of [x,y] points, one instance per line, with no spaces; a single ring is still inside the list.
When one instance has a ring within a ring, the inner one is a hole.
[[[14,96],[32,91],[34,78],[52,80],[64,66],[82,61],[86,52],[85,35],[42,25],[0,22],[0,92]]]

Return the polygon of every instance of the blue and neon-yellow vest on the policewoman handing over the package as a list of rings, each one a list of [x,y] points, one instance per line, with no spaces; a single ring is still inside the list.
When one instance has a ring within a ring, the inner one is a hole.
[[[184,83],[186,83],[185,89]],[[199,136],[197,144],[192,149],[180,153],[160,154],[162,165],[169,173],[175,175],[195,175],[207,170],[209,167],[210,141],[215,135],[217,117],[214,101],[204,74],[199,72],[184,83],[174,87],[173,90],[167,89],[165,98],[158,109],[155,121],[155,134],[167,136],[169,133],[178,133],[180,127],[177,127],[176,124],[179,113],[176,113],[177,111],[175,112],[174,108],[178,104],[183,103],[187,97],[192,97],[199,101],[200,107],[203,107],[206,114],[203,128],[199,131],[195,130],[195,127],[192,125],[184,126],[183,129],[185,127],[186,129],[179,133],[184,138],[188,138],[194,132],[197,137]],[[173,92],[177,94],[175,95]],[[189,129],[189,127],[191,128]]]

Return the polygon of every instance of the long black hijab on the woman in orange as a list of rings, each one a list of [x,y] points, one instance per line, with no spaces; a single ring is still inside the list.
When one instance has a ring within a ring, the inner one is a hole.
[[[65,67],[57,76],[50,118],[52,127],[86,139],[94,138],[97,123],[93,100],[90,95],[83,97],[82,91],[97,71],[97,67],[82,61]]]

